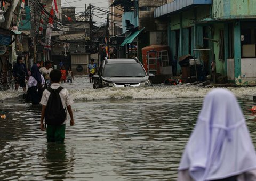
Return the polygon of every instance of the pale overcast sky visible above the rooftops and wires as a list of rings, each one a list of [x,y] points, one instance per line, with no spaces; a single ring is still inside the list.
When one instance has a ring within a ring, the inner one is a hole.
[[[76,13],[79,13],[84,12],[85,4],[88,6],[90,3],[93,6],[108,10],[108,0],[61,0],[61,7],[76,7]],[[106,22],[106,16],[102,15],[102,17],[105,18],[93,17],[93,21],[97,21],[96,26],[99,26],[101,22]]]

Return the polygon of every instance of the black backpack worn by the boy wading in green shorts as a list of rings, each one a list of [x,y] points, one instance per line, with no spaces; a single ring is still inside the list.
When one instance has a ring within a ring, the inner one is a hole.
[[[61,125],[66,120],[66,107],[63,108],[59,95],[62,89],[63,87],[59,87],[58,89],[47,88],[51,93],[45,110],[45,123],[47,125]]]

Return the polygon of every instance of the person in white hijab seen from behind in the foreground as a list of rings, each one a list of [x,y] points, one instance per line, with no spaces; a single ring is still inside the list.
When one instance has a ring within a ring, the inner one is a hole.
[[[236,97],[216,88],[204,98],[178,181],[256,180],[256,153]]]

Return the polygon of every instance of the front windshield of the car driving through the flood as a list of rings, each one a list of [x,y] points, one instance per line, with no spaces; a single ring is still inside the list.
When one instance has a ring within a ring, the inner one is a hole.
[[[139,63],[106,64],[103,77],[145,77],[146,72]]]

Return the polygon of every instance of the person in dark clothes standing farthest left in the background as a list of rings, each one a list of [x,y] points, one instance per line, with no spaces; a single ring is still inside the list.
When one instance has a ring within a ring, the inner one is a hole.
[[[17,57],[17,63],[13,66],[12,75],[14,77],[15,90],[17,91],[20,86],[23,88],[24,93],[26,93],[25,76],[28,76],[28,71],[21,56]]]

